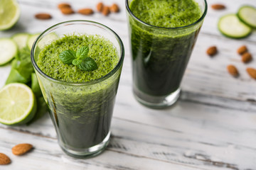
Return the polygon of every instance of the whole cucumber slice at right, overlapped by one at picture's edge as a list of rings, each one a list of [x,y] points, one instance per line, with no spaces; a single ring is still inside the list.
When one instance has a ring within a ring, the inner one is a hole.
[[[229,38],[245,38],[252,33],[252,28],[242,23],[235,14],[222,16],[218,21],[218,29]]]

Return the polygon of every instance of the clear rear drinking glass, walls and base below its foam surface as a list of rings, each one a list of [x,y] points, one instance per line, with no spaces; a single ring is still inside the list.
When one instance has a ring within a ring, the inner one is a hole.
[[[178,28],[161,28],[140,21],[129,8],[131,2],[126,0],[134,96],[151,108],[171,106],[181,93],[181,79],[206,16],[206,0],[196,0],[201,18]]]

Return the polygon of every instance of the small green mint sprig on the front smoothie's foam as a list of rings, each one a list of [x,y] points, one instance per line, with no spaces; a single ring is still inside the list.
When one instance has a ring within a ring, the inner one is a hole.
[[[87,72],[97,69],[97,63],[91,57],[87,57],[89,47],[82,46],[77,52],[73,50],[65,50],[60,53],[59,58],[64,64],[73,64],[79,69]]]

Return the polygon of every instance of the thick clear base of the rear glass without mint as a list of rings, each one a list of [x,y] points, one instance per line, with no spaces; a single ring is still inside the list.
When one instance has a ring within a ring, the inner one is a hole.
[[[178,101],[181,89],[178,88],[176,91],[166,96],[151,96],[139,91],[136,86],[133,87],[133,92],[137,101],[142,103],[144,106],[149,108],[166,108],[168,106],[172,106],[176,101]]]

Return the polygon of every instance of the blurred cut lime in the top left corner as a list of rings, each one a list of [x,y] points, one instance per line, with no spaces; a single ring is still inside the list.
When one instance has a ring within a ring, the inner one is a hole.
[[[0,30],[8,30],[14,26],[20,13],[16,0],[0,0]]]

